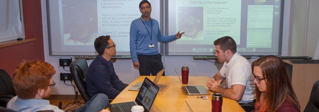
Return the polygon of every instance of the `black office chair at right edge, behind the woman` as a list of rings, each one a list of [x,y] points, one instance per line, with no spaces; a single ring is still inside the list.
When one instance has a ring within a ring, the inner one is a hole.
[[[313,84],[310,99],[303,112],[319,112],[319,81]]]

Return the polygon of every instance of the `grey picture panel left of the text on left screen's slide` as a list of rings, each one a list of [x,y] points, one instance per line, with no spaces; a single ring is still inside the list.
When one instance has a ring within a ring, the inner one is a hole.
[[[77,2],[77,5],[73,5]],[[62,0],[64,45],[91,45],[97,34],[96,2]]]

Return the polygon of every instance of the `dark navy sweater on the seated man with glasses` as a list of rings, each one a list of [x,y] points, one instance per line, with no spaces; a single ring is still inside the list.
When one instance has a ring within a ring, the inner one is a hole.
[[[113,99],[125,87],[116,75],[112,62],[100,55],[92,61],[86,75],[86,88],[90,97],[102,93]]]

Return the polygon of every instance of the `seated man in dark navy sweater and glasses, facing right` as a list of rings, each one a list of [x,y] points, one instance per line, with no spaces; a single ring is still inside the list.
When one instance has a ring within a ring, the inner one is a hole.
[[[90,64],[86,75],[86,88],[90,97],[103,93],[114,99],[127,86],[119,80],[110,61],[116,54],[116,47],[109,35],[100,36],[94,41],[99,55]]]

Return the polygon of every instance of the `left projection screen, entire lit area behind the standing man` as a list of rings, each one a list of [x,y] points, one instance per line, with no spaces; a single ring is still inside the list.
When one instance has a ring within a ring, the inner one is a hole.
[[[159,17],[159,1],[152,17]],[[118,55],[129,55],[130,23],[140,17],[140,0],[48,0],[51,54],[95,55],[94,40],[110,35]]]

